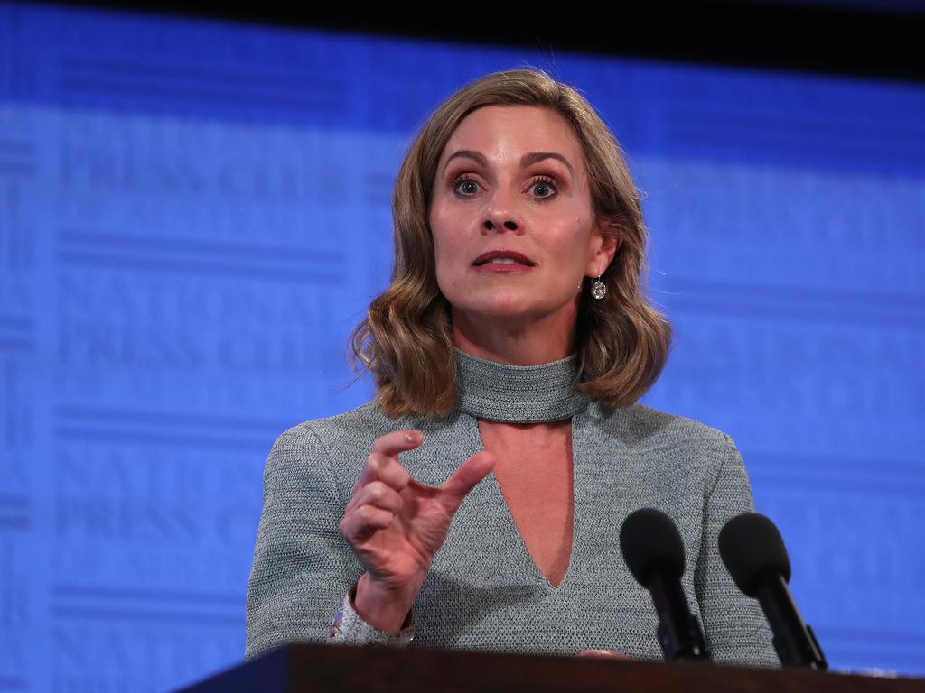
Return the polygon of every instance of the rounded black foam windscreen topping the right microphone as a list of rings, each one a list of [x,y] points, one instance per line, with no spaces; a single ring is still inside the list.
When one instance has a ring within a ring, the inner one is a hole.
[[[720,532],[720,556],[739,590],[754,597],[768,573],[790,581],[790,559],[781,532],[767,517],[745,513],[733,517]]]

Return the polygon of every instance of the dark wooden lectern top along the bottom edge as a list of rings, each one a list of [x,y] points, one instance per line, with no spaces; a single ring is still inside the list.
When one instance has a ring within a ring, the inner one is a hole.
[[[925,693],[925,679],[460,650],[287,645],[181,693]]]

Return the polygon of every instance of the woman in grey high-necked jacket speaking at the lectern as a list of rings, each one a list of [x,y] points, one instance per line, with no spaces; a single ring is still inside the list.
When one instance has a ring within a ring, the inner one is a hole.
[[[414,141],[393,213],[391,284],[352,339],[376,400],[274,445],[247,656],[413,636],[658,659],[619,546],[657,507],[713,659],[776,664],[717,553],[752,509],[734,444],[635,404],[671,331],[640,293],[639,197],[594,109],[534,70],[476,80]]]

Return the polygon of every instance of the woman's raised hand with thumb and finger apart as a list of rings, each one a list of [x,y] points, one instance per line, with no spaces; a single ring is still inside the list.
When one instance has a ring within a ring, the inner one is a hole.
[[[495,465],[483,450],[440,486],[425,486],[398,458],[422,440],[413,430],[376,438],[340,521],[340,533],[366,569],[357,583],[356,612],[380,630],[401,630],[453,514]]]

